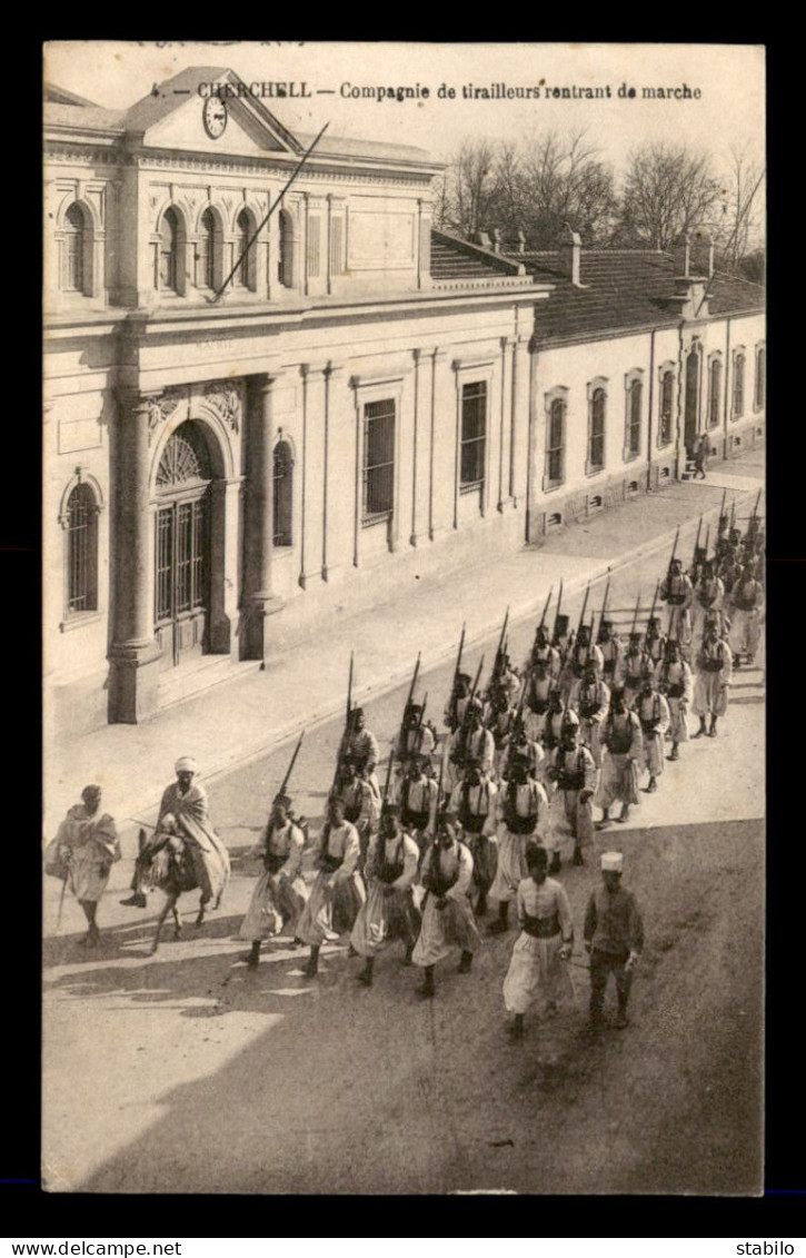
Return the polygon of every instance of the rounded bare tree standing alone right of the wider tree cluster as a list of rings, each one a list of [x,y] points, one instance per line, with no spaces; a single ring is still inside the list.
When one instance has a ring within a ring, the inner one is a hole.
[[[705,153],[668,141],[641,145],[627,160],[616,239],[668,249],[712,219],[719,187]]]

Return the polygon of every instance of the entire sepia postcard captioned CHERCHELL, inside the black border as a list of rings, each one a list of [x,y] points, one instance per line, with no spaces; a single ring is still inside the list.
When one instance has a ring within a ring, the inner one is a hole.
[[[43,1188],[761,1196],[765,49],[43,63]]]

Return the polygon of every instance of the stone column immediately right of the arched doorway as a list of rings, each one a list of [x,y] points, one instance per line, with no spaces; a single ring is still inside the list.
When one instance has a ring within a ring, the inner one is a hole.
[[[246,546],[248,594],[244,608],[246,626],[245,658],[268,655],[267,619],[283,606],[272,589],[272,555],[274,547],[274,452],[272,394],[277,375],[253,377],[249,399]]]

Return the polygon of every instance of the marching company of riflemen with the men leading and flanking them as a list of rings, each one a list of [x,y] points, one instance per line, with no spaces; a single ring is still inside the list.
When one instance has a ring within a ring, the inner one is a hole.
[[[480,945],[477,918],[489,897],[498,906],[489,933],[509,930],[513,901],[521,931],[504,980],[511,1034],[522,1037],[536,1000],[556,1009],[572,990],[565,962],[573,922],[555,877],[563,857],[570,849],[571,863],[583,864],[595,828],[629,818],[644,772],[644,789],[658,789],[665,742],[668,759],[676,760],[689,738],[689,706],[699,717],[693,737],[717,736],[732,671],[753,662],[763,620],[763,527],[756,509],[744,537],[732,523],[723,512],[712,557],[708,540],[699,546],[698,531],[689,571],[676,557],[675,538],[649,620],[638,629],[639,596],[626,644],[606,615],[609,590],[593,635],[592,619],[585,619],[587,591],[573,630],[560,610],[561,585],[553,630],[546,623],[549,593],[521,669],[507,653],[504,620],[482,691],[484,660],[475,678],[461,669],[463,630],[441,740],[425,718],[426,701],[415,702],[417,659],[382,790],[378,741],[351,702],[351,660],[345,731],[313,843],[314,882],[309,887],[302,876],[307,823],[294,816],[287,794],[298,743],[253,852],[263,873],[239,932],[251,944],[248,965],[258,966],[263,941],[284,932],[293,935],[292,946],[309,946],[303,972],[312,979],[322,946],[348,932],[350,955],[363,960],[356,977],[370,988],[377,956],[399,940],[404,965],[424,971],[419,994],[431,998],[435,966],[454,950],[459,972],[470,971]],[[665,632],[655,615],[658,600],[666,605]],[[133,894],[123,903],[142,907],[148,887],[158,883],[155,871],[165,877],[171,860],[186,862],[187,886],[200,887],[202,911],[220,899],[229,877],[226,847],[210,824],[195,762],[182,757],[176,774],[155,835],[137,858]],[[611,818],[615,804],[620,813]],[[601,809],[596,823],[593,806]],[[49,872],[69,876],[89,922],[87,942],[96,944],[96,905],[119,858],[114,823],[99,814],[98,788],[84,790],[52,849]],[[620,852],[604,853],[602,883],[585,915],[593,1025],[602,1019],[611,971],[616,1025],[627,1024],[632,967],[643,947],[641,916],[621,886],[622,867]]]

